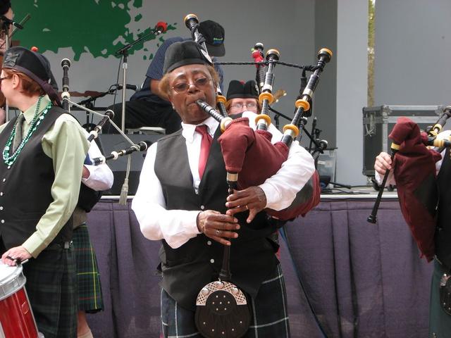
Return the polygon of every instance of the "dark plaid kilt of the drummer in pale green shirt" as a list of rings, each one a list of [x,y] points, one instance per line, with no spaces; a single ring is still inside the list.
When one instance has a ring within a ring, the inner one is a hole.
[[[46,249],[23,265],[25,289],[37,328],[45,338],[77,337],[73,249]]]

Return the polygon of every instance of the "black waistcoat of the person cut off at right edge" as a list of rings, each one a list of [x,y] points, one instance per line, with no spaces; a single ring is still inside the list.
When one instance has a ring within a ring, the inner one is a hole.
[[[438,222],[435,230],[435,256],[451,269],[451,160],[450,150],[443,157],[437,177],[439,201]]]

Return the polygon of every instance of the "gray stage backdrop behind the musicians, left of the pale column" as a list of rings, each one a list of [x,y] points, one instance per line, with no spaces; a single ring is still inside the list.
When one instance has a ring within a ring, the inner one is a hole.
[[[239,9],[238,9],[239,8]],[[218,61],[253,61],[250,49],[256,42],[262,42],[265,51],[276,48],[280,51],[280,60],[297,64],[316,63],[314,46],[314,0],[290,1],[228,1],[227,6],[221,6],[217,1],[143,1],[139,13],[145,18],[150,27],[158,21],[177,23],[177,30],[171,30],[164,35],[165,38],[190,35],[183,24],[183,18],[188,13],[195,13],[199,20],[216,20],[223,25],[226,31],[226,56]],[[130,23],[132,26],[132,23]],[[144,29],[144,25],[140,23]],[[95,27],[91,27],[95,34]],[[156,40],[144,44],[149,51],[156,51]],[[149,65],[143,59],[144,52],[138,51],[128,58],[127,82],[141,84]],[[147,54],[149,54],[147,52]],[[57,54],[46,52],[46,56],[54,65],[56,80],[61,81],[62,70],[58,65],[61,58],[73,58],[70,49],[59,49]],[[56,65],[56,66],[55,66]],[[84,92],[96,90],[103,92],[116,83],[119,61],[117,58],[92,58],[89,54],[82,54],[80,61],[73,62],[70,67],[70,90]],[[224,87],[233,79],[249,80],[255,77],[254,65],[223,65],[225,72]],[[285,115],[292,116],[295,98],[299,92],[299,79],[301,72],[297,68],[276,67],[274,90],[284,89],[288,94],[280,99],[273,108]],[[120,80],[121,82],[121,80]],[[132,92],[127,93],[128,96]],[[80,101],[84,98],[73,98]],[[120,100],[118,97],[116,101]],[[109,106],[113,103],[113,96],[106,96],[98,100],[98,106]],[[281,119],[283,126],[288,121]],[[326,135],[325,135],[326,137]]]

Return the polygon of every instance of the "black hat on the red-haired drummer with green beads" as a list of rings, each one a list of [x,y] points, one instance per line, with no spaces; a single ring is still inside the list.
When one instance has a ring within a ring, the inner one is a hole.
[[[51,101],[55,101],[58,106],[61,106],[58,94],[51,85],[54,76],[51,73],[49,61],[42,54],[30,51],[25,47],[11,47],[5,53],[3,68],[17,70],[35,80],[49,95]]]

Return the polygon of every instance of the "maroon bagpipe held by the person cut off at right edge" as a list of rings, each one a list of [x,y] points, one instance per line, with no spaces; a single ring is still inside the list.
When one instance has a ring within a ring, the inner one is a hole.
[[[451,106],[444,108],[437,122],[426,132],[409,118],[398,118],[390,132],[393,140],[391,148],[392,170],[386,170],[378,196],[368,217],[370,223],[376,223],[383,188],[390,171],[396,181],[397,195],[404,220],[412,236],[427,261],[435,254],[435,225],[438,206],[438,185],[436,182],[435,162],[440,161],[440,152],[451,146],[450,138],[438,139],[446,120],[451,117]],[[435,146],[436,149],[429,149]]]

